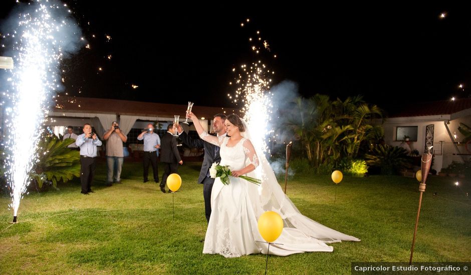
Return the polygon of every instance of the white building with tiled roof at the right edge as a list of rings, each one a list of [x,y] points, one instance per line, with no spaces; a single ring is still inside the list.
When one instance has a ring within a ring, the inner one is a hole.
[[[459,123],[471,126],[471,98],[414,103],[399,106],[383,124],[386,144],[399,146],[409,136],[411,149],[422,154],[433,145],[433,169],[471,156],[471,142],[462,143]]]

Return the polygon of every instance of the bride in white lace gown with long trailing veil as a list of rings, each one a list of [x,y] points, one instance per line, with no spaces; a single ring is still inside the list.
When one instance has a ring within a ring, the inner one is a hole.
[[[220,146],[221,163],[232,172],[230,184],[222,184],[219,177],[211,192],[209,218],[203,253],[239,257],[252,253],[267,253],[268,243],[258,230],[258,218],[265,211],[275,211],[283,218],[284,228],[276,243],[270,244],[270,254],[286,256],[305,251],[333,251],[326,243],[342,240],[359,241],[324,226],[296,208],[283,193],[270,163],[263,153],[257,154],[250,140],[247,123],[236,114],[229,114],[224,122],[227,136],[212,136],[203,130],[198,117],[189,112],[199,136]],[[239,178],[247,174],[262,179],[260,186]]]

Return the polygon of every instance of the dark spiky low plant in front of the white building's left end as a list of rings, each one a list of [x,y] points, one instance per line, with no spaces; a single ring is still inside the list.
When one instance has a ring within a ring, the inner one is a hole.
[[[404,148],[390,145],[377,145],[372,153],[365,154],[366,164],[378,166],[382,174],[396,174],[409,164]]]

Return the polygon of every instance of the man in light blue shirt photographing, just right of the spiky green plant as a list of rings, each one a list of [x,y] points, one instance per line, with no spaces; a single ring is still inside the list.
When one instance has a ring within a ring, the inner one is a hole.
[[[91,189],[93,175],[95,174],[97,146],[101,146],[101,140],[92,132],[92,125],[83,125],[83,133],[77,137],[75,144],[80,147],[80,182],[82,194],[93,193]]]

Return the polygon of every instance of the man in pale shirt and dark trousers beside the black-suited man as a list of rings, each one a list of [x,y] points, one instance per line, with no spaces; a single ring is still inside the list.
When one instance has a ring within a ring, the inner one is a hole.
[[[157,153],[155,151],[160,147],[160,137],[154,132],[154,125],[152,123],[147,124],[147,128],[137,136],[137,140],[144,140],[144,182],[148,181],[149,162],[152,163],[154,181],[159,182]]]

